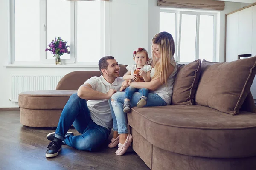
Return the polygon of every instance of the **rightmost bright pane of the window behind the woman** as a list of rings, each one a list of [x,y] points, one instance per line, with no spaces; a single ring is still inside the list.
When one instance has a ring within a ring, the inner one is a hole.
[[[200,15],[199,26],[199,59],[213,60],[213,26],[214,16]]]

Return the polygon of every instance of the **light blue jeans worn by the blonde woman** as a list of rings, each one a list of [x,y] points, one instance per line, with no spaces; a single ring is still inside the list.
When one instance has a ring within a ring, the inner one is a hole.
[[[131,107],[136,106],[139,101],[141,94],[135,92],[130,100]],[[111,97],[111,114],[113,118],[113,129],[118,131],[119,134],[128,133],[127,129],[127,113],[123,112],[123,103],[125,99],[125,92],[117,92]],[[149,106],[165,106],[166,102],[155,93],[148,93],[147,104],[144,107]],[[111,107],[112,106],[112,107]],[[129,114],[129,113],[128,113]]]

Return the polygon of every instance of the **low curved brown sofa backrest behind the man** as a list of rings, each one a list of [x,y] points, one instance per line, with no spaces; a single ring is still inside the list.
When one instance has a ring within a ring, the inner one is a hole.
[[[127,72],[127,65],[120,66],[120,77]],[[90,79],[93,76],[101,76],[100,71],[73,71],[66,74],[58,82],[56,90],[77,90],[87,79]]]

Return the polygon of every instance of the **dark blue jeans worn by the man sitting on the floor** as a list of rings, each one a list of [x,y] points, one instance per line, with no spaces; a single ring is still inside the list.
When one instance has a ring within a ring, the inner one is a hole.
[[[81,135],[65,138],[72,124]],[[109,134],[110,130],[93,122],[86,100],[79,98],[77,94],[71,95],[61,113],[55,137],[78,150],[93,151],[108,139]]]

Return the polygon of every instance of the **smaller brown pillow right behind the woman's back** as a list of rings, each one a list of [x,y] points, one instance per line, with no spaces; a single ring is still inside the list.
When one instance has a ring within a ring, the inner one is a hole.
[[[173,85],[172,104],[194,105],[195,91],[201,73],[200,59],[189,64],[177,64],[177,74]]]

